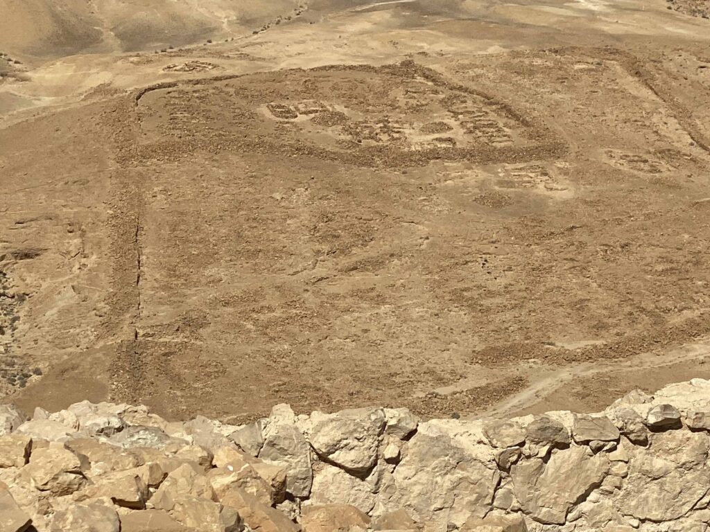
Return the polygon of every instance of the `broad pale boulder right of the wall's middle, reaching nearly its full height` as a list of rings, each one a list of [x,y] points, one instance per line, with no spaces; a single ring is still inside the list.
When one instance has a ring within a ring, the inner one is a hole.
[[[500,473],[493,450],[478,437],[481,443],[471,444],[470,430],[455,420],[420,424],[393,473],[393,502],[417,521],[460,526],[471,515],[483,517]]]

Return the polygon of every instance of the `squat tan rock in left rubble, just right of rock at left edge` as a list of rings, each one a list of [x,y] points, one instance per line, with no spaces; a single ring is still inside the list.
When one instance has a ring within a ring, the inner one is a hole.
[[[28,471],[36,489],[55,497],[72,494],[86,482],[79,458],[65,448],[34,450]]]

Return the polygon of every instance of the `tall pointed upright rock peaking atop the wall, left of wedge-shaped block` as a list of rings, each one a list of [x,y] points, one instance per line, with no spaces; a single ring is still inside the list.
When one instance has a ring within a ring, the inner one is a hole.
[[[286,489],[294,497],[308,497],[313,482],[310,445],[295,426],[288,405],[274,406],[264,428],[264,443],[258,458],[286,469]]]

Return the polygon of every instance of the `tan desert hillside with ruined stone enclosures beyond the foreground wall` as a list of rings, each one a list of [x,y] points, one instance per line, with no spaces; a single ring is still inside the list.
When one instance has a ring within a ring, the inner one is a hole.
[[[709,378],[707,7],[0,0],[2,401],[508,415]]]

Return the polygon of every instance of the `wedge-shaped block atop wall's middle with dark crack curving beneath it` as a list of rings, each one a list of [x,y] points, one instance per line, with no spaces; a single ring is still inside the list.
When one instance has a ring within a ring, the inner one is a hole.
[[[323,460],[354,472],[370,470],[385,428],[382,409],[343,410],[337,414],[313,412],[309,441]]]

